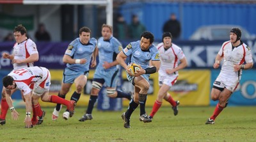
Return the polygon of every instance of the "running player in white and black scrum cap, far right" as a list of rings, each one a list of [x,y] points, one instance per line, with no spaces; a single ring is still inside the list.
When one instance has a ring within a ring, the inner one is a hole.
[[[214,113],[205,124],[214,124],[218,114],[227,106],[228,98],[236,90],[241,79],[242,70],[253,67],[252,53],[250,48],[241,41],[241,30],[232,28],[230,31],[230,41],[224,42],[218,52],[214,68],[223,65],[220,74],[214,81],[211,91],[211,99],[219,100]]]

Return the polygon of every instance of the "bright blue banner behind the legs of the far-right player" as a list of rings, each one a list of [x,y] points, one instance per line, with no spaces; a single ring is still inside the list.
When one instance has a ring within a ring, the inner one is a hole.
[[[243,75],[237,90],[228,99],[228,106],[255,106],[256,105],[256,77],[255,69],[243,70]],[[211,71],[211,88],[220,70]],[[211,97],[211,94],[209,94]],[[218,101],[211,100],[210,105],[216,106]]]

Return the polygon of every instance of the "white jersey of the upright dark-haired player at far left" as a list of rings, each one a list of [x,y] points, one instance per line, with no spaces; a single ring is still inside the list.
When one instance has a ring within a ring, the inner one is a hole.
[[[15,43],[13,46],[14,59],[26,59],[29,58],[31,54],[38,54],[38,51],[36,49],[36,43],[29,38],[22,43]],[[33,66],[33,63],[13,63],[14,70]]]

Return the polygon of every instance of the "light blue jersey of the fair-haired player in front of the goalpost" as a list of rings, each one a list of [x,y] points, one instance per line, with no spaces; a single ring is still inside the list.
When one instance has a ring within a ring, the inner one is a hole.
[[[99,64],[97,70],[105,70],[103,68],[104,61],[112,63],[116,60],[116,55],[122,51],[122,44],[113,36],[109,40],[103,40],[103,37],[100,37],[98,40],[98,49],[99,49]],[[115,70],[116,66],[108,68],[107,70]]]

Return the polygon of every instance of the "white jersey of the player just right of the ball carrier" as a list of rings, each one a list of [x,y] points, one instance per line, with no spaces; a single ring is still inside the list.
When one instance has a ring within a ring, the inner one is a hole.
[[[166,74],[166,69],[173,69],[178,66],[179,60],[183,59],[185,55],[182,52],[182,49],[172,43],[172,47],[165,51],[164,44],[159,43],[157,45],[159,51],[159,56],[161,60],[161,65],[159,68],[159,74]],[[166,74],[167,75],[167,74]]]

